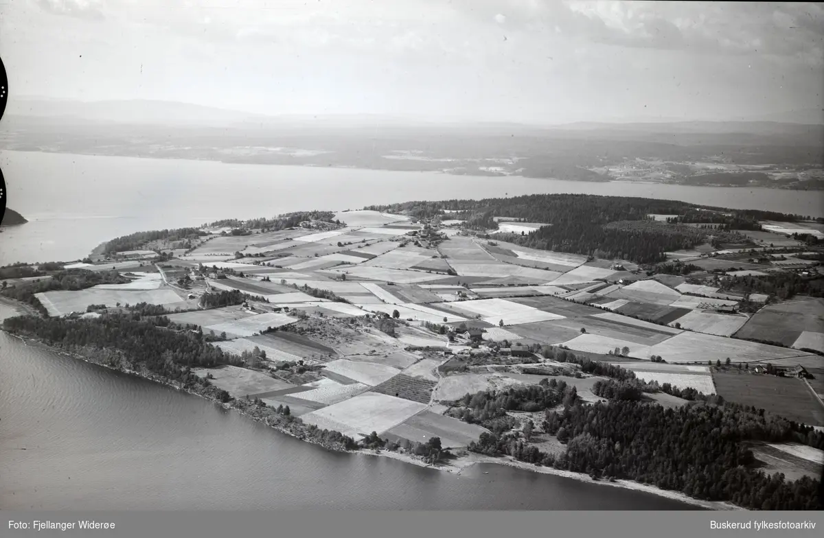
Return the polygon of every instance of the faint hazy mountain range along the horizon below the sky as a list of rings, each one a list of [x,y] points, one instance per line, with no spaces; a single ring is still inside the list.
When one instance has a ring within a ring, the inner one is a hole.
[[[118,123],[157,124],[176,126],[324,126],[332,128],[365,128],[378,126],[432,126],[461,127],[469,122],[449,120],[433,122],[412,116],[391,115],[263,115],[225,110],[218,107],[192,105],[176,101],[68,101],[37,97],[18,97],[8,102],[7,116],[25,116],[47,120],[49,123]],[[608,120],[574,124],[524,125],[509,122],[479,122],[485,130],[510,129],[616,129],[673,133],[730,133],[751,132],[752,123],[824,125],[824,109],[789,110],[781,113],[752,115],[740,118],[685,121],[675,118],[649,117],[638,121]],[[746,127],[745,127],[746,126]],[[738,130],[737,130],[738,129]],[[782,133],[774,126],[761,126],[760,132]]]

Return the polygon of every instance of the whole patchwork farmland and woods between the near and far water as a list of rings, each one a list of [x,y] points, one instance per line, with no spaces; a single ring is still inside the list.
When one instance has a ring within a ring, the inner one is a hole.
[[[2,267],[2,329],[330,450],[809,510],[822,240],[582,194],[227,219]]]

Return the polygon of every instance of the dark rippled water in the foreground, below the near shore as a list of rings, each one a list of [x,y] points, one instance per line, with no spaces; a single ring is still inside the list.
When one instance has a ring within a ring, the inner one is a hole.
[[[0,319],[10,315],[0,304]],[[502,465],[456,476],[325,451],[207,400],[2,331],[0,380],[3,510],[691,509]]]

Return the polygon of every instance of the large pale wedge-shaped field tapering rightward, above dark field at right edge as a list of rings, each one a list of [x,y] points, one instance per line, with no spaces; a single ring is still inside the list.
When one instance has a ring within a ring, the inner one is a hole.
[[[667,363],[705,363],[706,361],[714,363],[716,360],[723,363],[728,357],[733,363],[753,363],[773,358],[793,357],[798,355],[798,351],[687,330],[660,344],[653,345],[647,353],[639,357],[649,358],[653,354],[660,355]]]

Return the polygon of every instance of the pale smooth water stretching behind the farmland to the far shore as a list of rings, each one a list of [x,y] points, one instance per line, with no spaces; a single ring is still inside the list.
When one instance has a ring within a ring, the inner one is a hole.
[[[225,164],[2,152],[8,207],[31,222],[0,234],[0,264],[68,261],[102,241],[221,218],[360,209],[410,200],[583,193],[824,216],[824,191],[588,183],[435,172]]]

